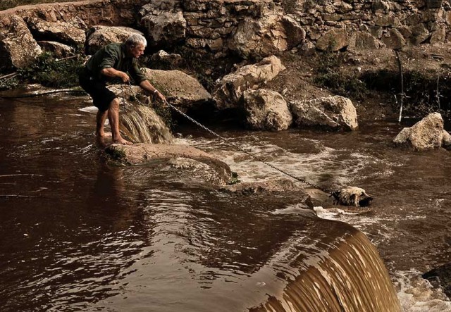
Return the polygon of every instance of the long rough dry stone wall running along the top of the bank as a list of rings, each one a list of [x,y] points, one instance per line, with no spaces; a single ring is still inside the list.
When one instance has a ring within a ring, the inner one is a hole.
[[[94,25],[135,27],[156,49],[185,44],[218,56],[264,57],[294,47],[400,49],[448,42],[448,1],[86,0],[1,11],[0,34],[11,32],[11,17],[18,16],[30,29],[39,20],[45,27],[84,25],[82,30]],[[39,38],[47,39],[68,41]]]

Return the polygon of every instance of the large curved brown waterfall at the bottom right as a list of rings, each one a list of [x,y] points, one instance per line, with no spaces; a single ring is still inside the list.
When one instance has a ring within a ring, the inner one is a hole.
[[[402,311],[378,251],[358,230],[291,265],[300,274],[282,294],[249,311]]]

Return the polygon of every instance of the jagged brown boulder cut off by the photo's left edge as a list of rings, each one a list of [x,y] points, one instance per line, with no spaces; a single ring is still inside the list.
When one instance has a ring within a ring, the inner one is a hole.
[[[41,53],[23,18],[11,17],[8,31],[0,32],[0,70],[23,68]]]

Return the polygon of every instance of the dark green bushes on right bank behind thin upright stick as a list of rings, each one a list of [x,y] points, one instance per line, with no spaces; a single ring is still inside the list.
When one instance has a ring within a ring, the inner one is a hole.
[[[401,104],[401,77],[398,70],[378,70],[356,75],[346,63],[347,52],[324,52],[317,56],[313,82],[335,94],[364,100],[371,92],[393,94],[393,109]],[[404,113],[424,116],[440,111],[443,115],[451,108],[451,74],[447,70],[404,70]]]

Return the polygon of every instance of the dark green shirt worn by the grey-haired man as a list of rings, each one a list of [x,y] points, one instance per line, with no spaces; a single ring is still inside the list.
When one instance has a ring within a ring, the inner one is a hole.
[[[118,79],[101,75],[100,71],[104,68],[114,68],[128,73],[137,85],[142,80],[146,80],[145,75],[137,66],[137,59],[127,54],[125,44],[107,44],[89,58],[86,68],[95,80],[103,82],[113,82]]]

